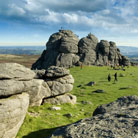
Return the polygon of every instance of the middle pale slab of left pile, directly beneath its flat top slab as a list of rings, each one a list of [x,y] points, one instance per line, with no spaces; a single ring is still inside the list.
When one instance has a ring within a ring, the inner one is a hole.
[[[30,105],[39,106],[42,99],[51,96],[51,90],[43,80],[30,81],[0,80],[0,96],[11,96],[26,92],[30,95]]]

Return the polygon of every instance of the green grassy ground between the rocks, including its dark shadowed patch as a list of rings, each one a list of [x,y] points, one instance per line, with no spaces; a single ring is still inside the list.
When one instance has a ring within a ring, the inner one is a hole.
[[[46,138],[57,127],[91,117],[95,108],[101,104],[112,102],[121,96],[138,95],[137,67],[129,67],[122,71],[110,67],[85,66],[83,69],[74,67],[70,71],[75,79],[71,93],[77,96],[77,104],[58,105],[61,107],[60,111],[49,110],[52,106],[50,104],[30,107],[17,138]],[[118,81],[114,83],[115,72],[118,73]],[[109,73],[112,75],[111,82],[107,81]],[[90,81],[96,84],[86,86]],[[81,86],[77,87],[79,85]],[[105,92],[94,93],[93,91],[97,89]],[[64,116],[67,113],[71,113],[72,117]]]

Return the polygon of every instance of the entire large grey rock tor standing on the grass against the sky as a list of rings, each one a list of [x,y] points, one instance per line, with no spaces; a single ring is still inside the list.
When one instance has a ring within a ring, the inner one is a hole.
[[[130,62],[121,55],[114,42],[98,42],[92,34],[79,40],[72,31],[59,30],[50,36],[46,50],[32,69],[47,69],[50,66],[69,68],[80,64],[128,66]]]

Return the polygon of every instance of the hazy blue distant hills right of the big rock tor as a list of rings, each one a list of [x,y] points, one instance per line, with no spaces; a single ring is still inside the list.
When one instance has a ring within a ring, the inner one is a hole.
[[[121,53],[129,58],[138,57],[138,47],[118,46]]]

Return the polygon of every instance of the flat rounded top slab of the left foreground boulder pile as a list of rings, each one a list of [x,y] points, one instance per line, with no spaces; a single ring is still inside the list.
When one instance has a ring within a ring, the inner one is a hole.
[[[35,73],[17,63],[0,63],[0,79],[31,80]]]

